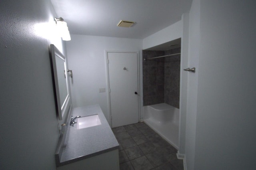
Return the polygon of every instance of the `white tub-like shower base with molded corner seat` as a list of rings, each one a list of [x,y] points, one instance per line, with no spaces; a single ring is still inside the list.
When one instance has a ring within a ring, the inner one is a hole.
[[[166,103],[143,107],[144,123],[156,131],[176,149],[179,138],[180,109]]]

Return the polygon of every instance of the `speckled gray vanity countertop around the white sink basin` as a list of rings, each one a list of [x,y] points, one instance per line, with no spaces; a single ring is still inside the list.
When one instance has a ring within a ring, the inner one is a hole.
[[[76,124],[74,127],[68,124],[65,142],[63,142],[62,146],[59,146],[56,152],[56,166],[62,166],[118,149],[119,144],[99,105],[76,107],[72,111],[73,117],[95,114],[99,115],[101,125],[76,129]]]

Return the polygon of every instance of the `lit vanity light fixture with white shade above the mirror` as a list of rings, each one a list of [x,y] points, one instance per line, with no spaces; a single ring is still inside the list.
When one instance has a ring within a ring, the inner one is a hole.
[[[62,17],[60,18],[54,18],[54,21],[56,23],[56,26],[58,28],[58,32],[60,32],[60,36],[62,38],[63,41],[70,41],[70,34],[68,31],[68,26],[67,23],[64,21],[64,19]]]

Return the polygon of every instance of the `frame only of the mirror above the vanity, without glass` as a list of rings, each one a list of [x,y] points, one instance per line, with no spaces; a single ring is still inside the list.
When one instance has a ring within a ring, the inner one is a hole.
[[[68,90],[68,75],[67,75],[67,65],[66,65],[66,58],[65,56],[55,47],[55,45],[50,45],[51,49],[51,57],[52,57],[52,69],[54,74],[54,85],[55,85],[55,98],[56,98],[56,107],[57,107],[57,115],[59,117],[59,120],[62,120],[64,118],[65,113],[65,107],[67,106],[67,103],[70,99],[70,94]],[[67,87],[67,96],[64,100],[64,103],[62,104],[60,102],[60,89],[59,89],[59,82],[58,82],[58,76],[57,76],[57,67],[56,67],[56,57],[59,57],[64,61],[64,68],[65,68],[65,76],[66,76],[66,87]]]

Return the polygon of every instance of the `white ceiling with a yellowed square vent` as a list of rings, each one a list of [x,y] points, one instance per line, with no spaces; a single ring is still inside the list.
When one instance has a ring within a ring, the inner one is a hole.
[[[143,39],[175,22],[188,12],[192,0],[51,0],[70,34]],[[134,21],[130,28],[116,26]]]

